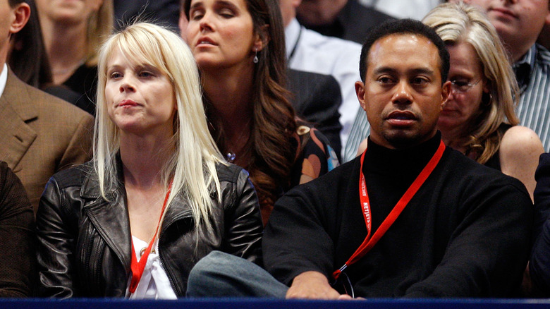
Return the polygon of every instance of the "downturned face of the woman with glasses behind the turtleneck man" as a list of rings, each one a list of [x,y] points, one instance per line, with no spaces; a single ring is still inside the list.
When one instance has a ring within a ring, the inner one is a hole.
[[[470,122],[475,119],[486,91],[486,81],[482,65],[474,47],[466,42],[447,46],[451,56],[451,68],[448,80],[451,80],[451,93],[444,104],[437,126],[441,131],[469,130]]]

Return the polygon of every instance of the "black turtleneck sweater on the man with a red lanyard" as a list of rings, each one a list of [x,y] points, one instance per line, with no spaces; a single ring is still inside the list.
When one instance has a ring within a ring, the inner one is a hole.
[[[363,171],[372,234],[432,158],[441,135],[406,150],[369,140]],[[343,265],[367,229],[360,159],[298,186],[276,202],[264,232],[264,265],[291,284]],[[432,174],[372,250],[346,269],[362,297],[514,296],[530,250],[532,203],[520,181],[447,148]]]

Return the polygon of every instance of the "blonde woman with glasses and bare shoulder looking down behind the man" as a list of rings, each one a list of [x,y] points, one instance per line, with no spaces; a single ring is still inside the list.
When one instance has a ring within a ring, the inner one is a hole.
[[[441,4],[423,23],[436,30],[451,55],[451,95],[437,128],[446,145],[518,178],[533,197],[542,143],[517,126],[518,85],[499,36],[483,13],[467,4]]]

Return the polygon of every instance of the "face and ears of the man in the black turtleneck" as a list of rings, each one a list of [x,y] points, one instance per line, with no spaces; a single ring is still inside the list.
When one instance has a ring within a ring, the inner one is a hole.
[[[419,35],[395,34],[374,42],[365,84],[355,83],[374,143],[398,149],[435,135],[450,88],[448,82],[441,86],[439,61],[437,47]]]

